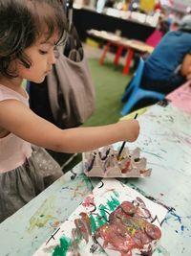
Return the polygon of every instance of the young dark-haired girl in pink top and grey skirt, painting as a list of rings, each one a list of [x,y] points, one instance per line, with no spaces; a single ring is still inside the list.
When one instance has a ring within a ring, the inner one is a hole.
[[[56,178],[59,166],[42,150],[82,152],[138,138],[138,121],[60,129],[32,112],[23,79],[42,82],[66,33],[58,0],[0,0],[0,221]],[[31,144],[38,146],[32,150]]]

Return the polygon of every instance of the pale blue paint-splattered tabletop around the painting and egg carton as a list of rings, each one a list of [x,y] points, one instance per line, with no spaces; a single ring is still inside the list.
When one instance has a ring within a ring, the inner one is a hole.
[[[191,255],[191,114],[173,105],[154,105],[138,121],[140,135],[132,148],[141,149],[152,175],[122,182],[171,209],[154,255]],[[1,256],[32,255],[99,181],[83,175],[81,164],[73,171],[0,224]]]

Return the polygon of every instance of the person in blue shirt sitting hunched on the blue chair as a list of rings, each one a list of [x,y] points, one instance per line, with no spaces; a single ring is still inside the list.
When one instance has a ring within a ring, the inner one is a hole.
[[[191,58],[191,15],[182,19],[178,31],[168,32],[145,60],[141,87],[168,94],[190,79],[190,64],[181,64]]]

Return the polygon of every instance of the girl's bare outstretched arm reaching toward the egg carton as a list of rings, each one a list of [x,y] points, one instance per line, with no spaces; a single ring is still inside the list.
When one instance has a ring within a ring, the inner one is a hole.
[[[117,141],[133,142],[139,133],[135,119],[94,128],[56,128],[16,100],[0,102],[0,127],[34,145],[62,152],[91,151]]]

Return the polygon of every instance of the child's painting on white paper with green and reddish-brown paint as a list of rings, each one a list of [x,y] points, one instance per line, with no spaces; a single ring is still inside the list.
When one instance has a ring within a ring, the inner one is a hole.
[[[152,255],[166,213],[127,185],[104,179],[34,255]]]

